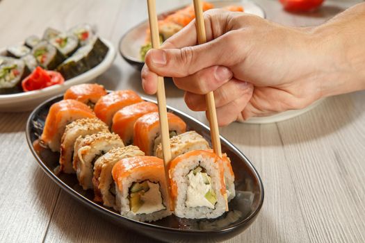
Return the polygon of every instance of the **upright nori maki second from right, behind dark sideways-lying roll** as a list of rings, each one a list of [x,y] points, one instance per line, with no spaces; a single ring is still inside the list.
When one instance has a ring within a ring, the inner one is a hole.
[[[60,53],[63,53],[63,56],[71,56],[79,47],[79,39],[72,34],[57,35],[49,39],[49,43],[53,44]]]

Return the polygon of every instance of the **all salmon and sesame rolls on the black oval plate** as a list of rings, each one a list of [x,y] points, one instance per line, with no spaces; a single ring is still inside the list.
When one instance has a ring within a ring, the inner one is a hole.
[[[236,194],[229,158],[213,153],[172,112],[168,126],[172,160],[166,177],[156,104],[132,90],[108,93],[102,85],[81,84],[51,105],[39,144],[60,153],[57,173],[76,174],[96,202],[125,217],[219,217]]]

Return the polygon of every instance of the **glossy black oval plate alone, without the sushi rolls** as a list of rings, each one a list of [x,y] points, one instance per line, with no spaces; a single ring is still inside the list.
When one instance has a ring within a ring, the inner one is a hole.
[[[172,215],[152,223],[143,223],[122,217],[113,209],[95,203],[92,201],[92,190],[83,191],[75,175],[57,175],[54,172],[54,169],[58,166],[58,153],[51,152],[49,149],[40,149],[40,146],[33,145],[37,144],[38,138],[42,134],[49,107],[61,99],[63,99],[63,96],[59,95],[44,101],[44,103],[35,108],[26,124],[26,140],[40,167],[42,167],[49,177],[63,190],[74,196],[75,199],[92,208],[95,212],[99,212],[106,219],[110,219],[122,227],[130,228],[133,231],[158,240],[168,242],[196,242],[201,240],[218,241],[234,237],[242,233],[245,228],[248,228],[257,217],[263,203],[263,185],[261,178],[248,158],[223,137],[220,137],[222,151],[227,153],[232,160],[232,167],[236,177],[236,197],[229,203],[229,212],[226,212],[221,217],[209,220],[195,220],[181,219]],[[145,100],[151,101],[149,99]],[[168,107],[168,111],[181,117],[186,122],[188,130],[197,131],[206,140],[210,141],[210,132],[207,126],[174,108]]]

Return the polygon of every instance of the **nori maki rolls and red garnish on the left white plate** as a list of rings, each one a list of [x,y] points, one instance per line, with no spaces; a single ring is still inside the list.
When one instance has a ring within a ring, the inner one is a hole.
[[[0,94],[40,90],[62,84],[97,66],[108,47],[89,24],[66,32],[47,28],[0,54]]]

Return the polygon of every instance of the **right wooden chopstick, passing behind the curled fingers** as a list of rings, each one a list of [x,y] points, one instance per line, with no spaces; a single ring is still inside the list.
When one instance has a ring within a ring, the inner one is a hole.
[[[197,28],[197,43],[204,44],[206,43],[206,33],[205,33],[202,1],[193,0],[193,2],[194,2],[195,22]],[[213,145],[213,151],[214,153],[216,153],[216,155],[222,158],[222,148],[220,146],[216,103],[214,103],[213,91],[205,95],[205,101],[206,101],[206,106],[208,108],[208,119],[209,119],[209,126],[211,128],[211,143]],[[226,201],[226,211],[228,211],[227,193],[225,194],[225,201]]]

